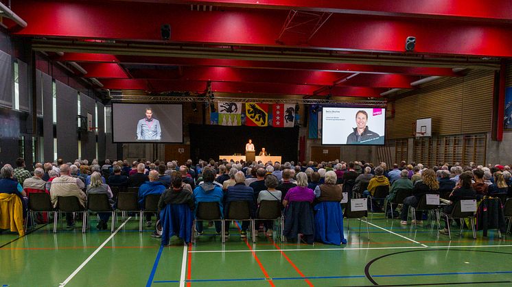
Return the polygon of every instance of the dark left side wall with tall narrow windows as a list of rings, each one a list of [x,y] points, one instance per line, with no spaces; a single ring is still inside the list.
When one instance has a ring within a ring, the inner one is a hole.
[[[15,66],[18,67],[16,81]],[[23,39],[12,40],[0,32],[0,164],[12,164],[16,158],[23,157],[27,168],[31,169],[33,162],[53,161],[54,147],[58,158],[72,161],[79,158],[79,142],[81,158],[105,158],[104,104],[95,97],[95,91],[78,81],[43,55],[33,58],[30,43]],[[14,101],[16,86],[19,90],[17,109]],[[93,126],[100,127],[97,133],[77,130],[79,92],[80,114],[93,115]]]

